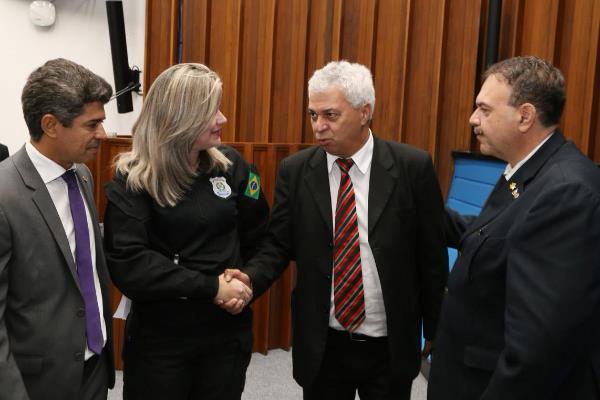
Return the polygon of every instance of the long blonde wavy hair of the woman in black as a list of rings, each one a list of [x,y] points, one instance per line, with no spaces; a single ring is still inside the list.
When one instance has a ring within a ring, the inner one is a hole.
[[[127,188],[148,192],[162,207],[175,206],[198,174],[190,152],[219,110],[221,95],[221,79],[205,65],[177,64],[162,72],[133,125],[131,151],[115,160],[117,171],[127,176]],[[215,147],[201,151],[198,159],[200,170],[208,172],[231,165]]]

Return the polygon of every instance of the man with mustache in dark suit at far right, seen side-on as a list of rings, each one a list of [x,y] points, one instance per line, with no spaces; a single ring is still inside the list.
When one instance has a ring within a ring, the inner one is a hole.
[[[600,174],[558,130],[560,71],[493,65],[470,123],[508,166],[477,218],[448,212],[430,400],[600,399]]]

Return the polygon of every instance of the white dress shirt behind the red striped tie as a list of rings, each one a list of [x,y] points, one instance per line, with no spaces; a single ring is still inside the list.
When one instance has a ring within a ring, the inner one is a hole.
[[[331,193],[331,215],[335,235],[335,210],[337,208],[337,194],[340,187],[340,169],[335,162],[339,157],[327,153],[327,170],[329,172],[329,190]],[[373,159],[373,135],[369,130],[369,139],[352,157],[354,165],[348,174],[354,187],[356,200],[356,214],[358,218],[358,236],[360,240],[360,260],[362,264],[363,288],[365,292],[365,320],[356,330],[368,336],[387,336],[387,322],[385,319],[385,306],[381,293],[381,282],[375,258],[369,246],[369,178],[371,177],[371,160]],[[332,264],[333,270],[333,264]],[[335,318],[333,303],[333,279],[331,289],[331,306],[329,310],[329,326],[344,330]]]

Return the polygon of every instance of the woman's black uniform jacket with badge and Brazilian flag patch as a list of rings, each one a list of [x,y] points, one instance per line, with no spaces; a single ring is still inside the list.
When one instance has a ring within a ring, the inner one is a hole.
[[[220,150],[233,165],[225,173],[200,173],[175,207],[161,207],[148,193],[127,190],[124,176],[106,185],[108,266],[117,288],[133,301],[138,334],[241,330],[250,337],[250,308],[230,315],[213,298],[219,274],[241,267],[256,249],[269,208],[258,173],[234,149]]]

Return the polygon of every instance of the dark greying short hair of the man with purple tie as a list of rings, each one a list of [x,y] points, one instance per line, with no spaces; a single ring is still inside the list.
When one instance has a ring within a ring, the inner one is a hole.
[[[106,104],[111,96],[108,82],[89,69],[64,58],[50,60],[29,75],[21,94],[29,135],[34,141],[42,137],[45,114],[71,126],[86,104]]]

